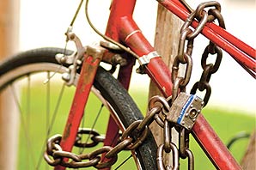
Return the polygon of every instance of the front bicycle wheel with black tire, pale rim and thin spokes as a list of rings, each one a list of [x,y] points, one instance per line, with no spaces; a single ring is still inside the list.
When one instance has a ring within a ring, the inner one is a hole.
[[[64,130],[75,86],[65,88],[65,83],[61,79],[61,74],[66,71],[68,65],[58,64],[55,56],[63,52],[64,50],[59,48],[40,48],[22,52],[0,64],[0,94],[8,93],[8,99],[16,105],[11,106],[11,112],[14,110],[19,112],[18,117],[21,119],[18,127],[17,157],[19,158],[16,161],[18,164],[16,167],[19,169],[46,167],[43,159],[46,140],[56,133],[62,134]],[[50,81],[43,83],[46,79]],[[109,112],[117,114],[119,119],[117,124],[124,127],[143,118],[130,95],[111,74],[101,67],[97,71],[91,92],[93,93],[89,96],[81,124],[82,128],[90,131],[89,134],[83,134],[84,141],[91,140],[89,137],[92,129],[97,131],[98,138],[103,137],[99,134],[106,132]],[[46,123],[43,124],[43,122]],[[103,145],[101,140],[97,143],[97,146]],[[79,153],[90,150],[94,148],[73,149],[74,152]],[[156,145],[151,133],[135,152],[124,151],[124,153],[123,156],[119,156],[117,166],[124,164],[131,169],[137,167],[147,170],[156,168]],[[131,154],[133,156],[130,156]],[[126,160],[127,157],[135,157],[130,160],[136,165],[131,165],[130,161],[122,163],[122,160]]]

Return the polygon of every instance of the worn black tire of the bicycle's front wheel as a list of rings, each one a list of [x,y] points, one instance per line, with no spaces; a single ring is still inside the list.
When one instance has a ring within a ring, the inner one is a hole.
[[[64,72],[64,66],[60,66],[55,59],[57,53],[63,52],[64,50],[60,48],[40,48],[22,52],[12,58],[9,58],[0,64],[0,90],[7,88],[10,83],[20,79],[21,76],[31,75],[34,72],[44,70],[48,72]],[[70,51],[67,52],[71,53]],[[29,65],[34,65],[35,68],[30,69]],[[52,68],[50,65],[52,65]],[[68,65],[65,66],[67,67]],[[125,88],[123,88],[110,73],[101,67],[97,71],[94,88],[99,90],[103,98],[110,103],[113,110],[117,112],[119,119],[121,120],[121,124],[124,124],[125,127],[133,123],[135,120],[143,119],[143,115],[131,99],[131,96],[126,92]],[[136,150],[136,156],[143,169],[155,170],[155,155],[155,140],[151,133],[149,133],[149,137],[147,137],[143,145]]]

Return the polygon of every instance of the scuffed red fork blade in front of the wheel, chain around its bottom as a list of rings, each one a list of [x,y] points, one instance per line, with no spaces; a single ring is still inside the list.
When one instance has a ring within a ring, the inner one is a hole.
[[[70,107],[70,114],[65,124],[60,146],[64,151],[71,151],[76,140],[76,133],[81,123],[90,89],[94,82],[97,68],[101,62],[104,49],[87,46],[80,77],[76,85],[76,93]],[[57,166],[55,170],[64,170],[65,167]]]

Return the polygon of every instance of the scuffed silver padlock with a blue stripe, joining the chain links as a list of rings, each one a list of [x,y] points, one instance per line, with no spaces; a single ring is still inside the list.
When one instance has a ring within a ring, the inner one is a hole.
[[[191,130],[203,106],[204,100],[197,95],[181,92],[174,100],[167,119],[171,123],[186,128],[186,130]]]

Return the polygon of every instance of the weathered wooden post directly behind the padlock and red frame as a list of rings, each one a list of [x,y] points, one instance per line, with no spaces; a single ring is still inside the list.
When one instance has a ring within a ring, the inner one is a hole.
[[[180,27],[182,21],[162,5],[158,5],[156,28],[155,28],[155,50],[162,55],[163,61],[171,69],[174,58],[178,51],[180,39]],[[154,95],[161,94],[154,82],[149,84],[149,99]],[[151,125],[151,131],[159,145],[162,141],[162,128],[155,122]],[[174,135],[173,139],[177,137]],[[174,139],[175,140],[175,139]]]

